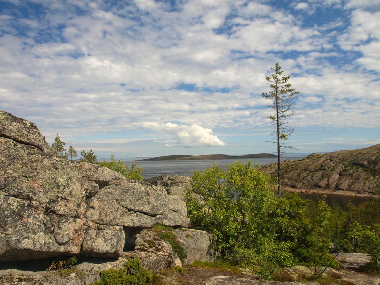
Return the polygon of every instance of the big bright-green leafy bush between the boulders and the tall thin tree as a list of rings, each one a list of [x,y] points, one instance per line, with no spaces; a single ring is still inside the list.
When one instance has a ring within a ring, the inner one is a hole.
[[[247,267],[256,264],[263,276],[292,265],[291,242],[278,234],[287,217],[270,190],[270,176],[253,168],[251,161],[226,168],[214,163],[203,173],[192,173],[192,188],[186,194],[192,225],[211,231],[215,249],[225,260]]]

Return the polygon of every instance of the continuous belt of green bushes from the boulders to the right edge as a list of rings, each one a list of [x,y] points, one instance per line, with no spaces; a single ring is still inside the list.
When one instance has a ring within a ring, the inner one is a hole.
[[[276,196],[274,183],[250,161],[237,161],[226,170],[214,163],[193,172],[187,192],[192,226],[211,231],[223,260],[267,279],[297,264],[313,266],[312,278],[320,279],[325,268],[338,266],[331,245],[334,252],[369,252],[377,264],[380,220],[367,212],[375,211],[378,199],[351,204],[345,212],[329,207],[323,197],[313,202],[296,193]]]

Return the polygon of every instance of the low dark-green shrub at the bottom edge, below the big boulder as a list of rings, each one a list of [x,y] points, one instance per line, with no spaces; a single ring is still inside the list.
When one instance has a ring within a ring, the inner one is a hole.
[[[140,260],[131,259],[124,265],[119,270],[101,271],[100,281],[89,285],[146,285],[154,281],[154,275],[142,267]]]

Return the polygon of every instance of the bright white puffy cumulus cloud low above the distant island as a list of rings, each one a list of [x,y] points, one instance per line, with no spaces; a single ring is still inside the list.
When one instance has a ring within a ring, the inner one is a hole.
[[[158,133],[170,135],[176,141],[174,144],[165,146],[196,147],[196,146],[225,146],[217,136],[212,135],[212,130],[193,124],[177,125],[176,123],[142,123],[142,127],[147,130],[154,130]]]

